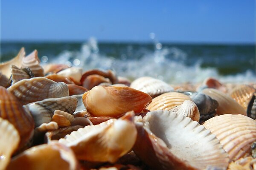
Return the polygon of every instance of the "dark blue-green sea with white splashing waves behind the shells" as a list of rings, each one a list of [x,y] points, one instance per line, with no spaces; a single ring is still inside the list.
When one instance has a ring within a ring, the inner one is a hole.
[[[151,76],[168,83],[256,82],[255,45],[97,42],[1,42],[0,62],[38,50],[41,64],[63,63],[84,71],[111,69],[118,76]]]

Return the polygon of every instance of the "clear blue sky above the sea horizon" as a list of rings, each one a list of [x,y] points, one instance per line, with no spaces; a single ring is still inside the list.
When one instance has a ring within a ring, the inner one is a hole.
[[[1,41],[256,39],[254,0],[1,0],[0,9]]]

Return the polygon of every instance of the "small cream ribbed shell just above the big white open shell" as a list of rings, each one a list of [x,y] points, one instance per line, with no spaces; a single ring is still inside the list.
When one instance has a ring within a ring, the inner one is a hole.
[[[190,100],[185,100],[181,105],[172,108],[170,111],[175,112],[176,114],[181,114],[185,117],[189,117],[192,120],[199,122],[200,113],[198,111],[198,107],[194,102]]]

